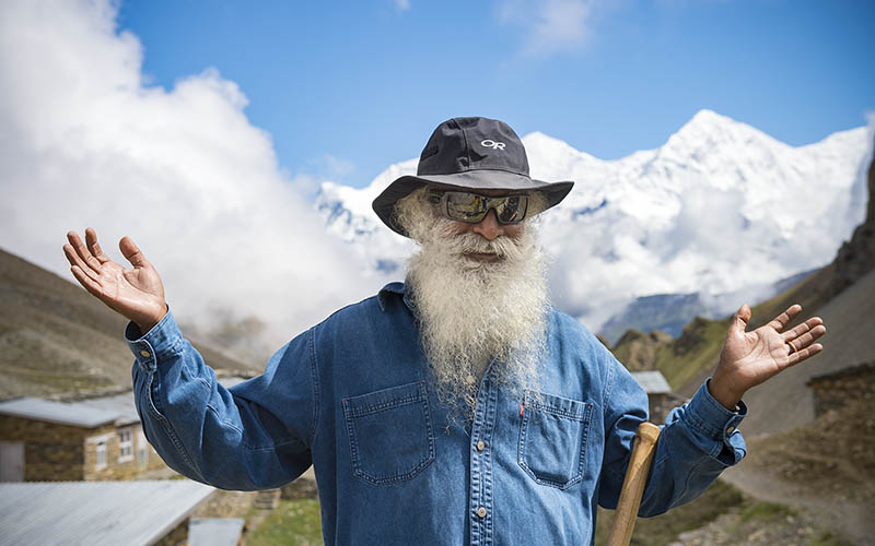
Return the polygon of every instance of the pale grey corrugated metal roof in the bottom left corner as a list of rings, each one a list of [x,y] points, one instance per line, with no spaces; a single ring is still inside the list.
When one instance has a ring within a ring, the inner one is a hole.
[[[0,484],[0,546],[144,546],[213,490],[180,479]]]

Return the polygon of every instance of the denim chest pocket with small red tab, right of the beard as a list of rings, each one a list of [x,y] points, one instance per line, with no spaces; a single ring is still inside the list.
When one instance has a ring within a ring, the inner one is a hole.
[[[583,479],[593,403],[526,391],[520,466],[540,485],[567,489]]]

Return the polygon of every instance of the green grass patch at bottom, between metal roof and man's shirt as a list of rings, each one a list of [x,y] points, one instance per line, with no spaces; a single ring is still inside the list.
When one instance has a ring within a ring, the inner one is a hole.
[[[319,501],[316,499],[280,500],[279,507],[250,534],[249,546],[310,546],[323,544]]]

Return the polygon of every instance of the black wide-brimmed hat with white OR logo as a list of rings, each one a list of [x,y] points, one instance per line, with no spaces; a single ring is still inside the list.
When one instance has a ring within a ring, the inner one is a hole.
[[[416,176],[402,176],[374,199],[376,215],[407,237],[395,217],[395,204],[429,185],[466,190],[538,191],[547,210],[562,201],[573,181],[544,182],[528,176],[528,158],[513,129],[495,119],[453,118],[431,134],[419,156]]]

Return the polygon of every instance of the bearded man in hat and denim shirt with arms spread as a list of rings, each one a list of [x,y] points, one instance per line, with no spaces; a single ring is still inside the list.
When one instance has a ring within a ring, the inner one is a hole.
[[[77,280],[128,317],[135,396],[173,468],[217,487],[278,487],[314,465],[326,544],[586,544],[616,507],[646,395],[547,304],[534,218],[572,182],[528,176],[522,142],[483,118],[442,123],[417,176],[374,201],[420,244],[405,284],[298,335],[224,389],[182,336],[128,238],[125,271],[70,233]],[[291,304],[290,304],[291,305]],[[698,496],[745,454],[744,392],[821,351],[793,306],[746,333],[735,314],[713,377],[668,417],[641,514]]]

